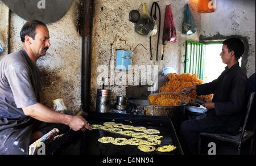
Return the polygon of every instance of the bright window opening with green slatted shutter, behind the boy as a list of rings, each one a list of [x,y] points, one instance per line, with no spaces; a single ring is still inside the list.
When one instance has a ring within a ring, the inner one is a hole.
[[[221,60],[222,41],[201,42],[186,41],[185,71],[196,74],[205,83],[212,82],[225,70]],[[239,64],[241,66],[241,59]]]

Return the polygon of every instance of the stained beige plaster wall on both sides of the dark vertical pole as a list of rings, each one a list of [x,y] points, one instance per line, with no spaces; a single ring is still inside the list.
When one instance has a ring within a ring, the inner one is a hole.
[[[164,22],[164,12],[166,5],[171,3],[174,14],[174,22],[177,32],[177,41],[175,44],[166,44],[164,49],[163,62],[156,61],[156,36],[152,37],[152,54],[153,60],[150,60],[149,37],[138,35],[134,31],[134,24],[129,21],[129,12],[137,10],[142,3],[146,3],[146,10],[150,12],[153,0],[119,0],[119,1],[94,1],[94,19],[93,19],[93,47],[92,47],[92,81],[91,81],[91,109],[95,109],[97,88],[101,88],[101,83],[97,83],[100,72],[97,67],[106,65],[108,69],[110,59],[110,44],[113,44],[112,59],[115,59],[116,49],[133,50],[139,43],[143,44],[148,50],[139,46],[133,54],[133,65],[157,65],[159,69],[164,66],[173,67],[178,73],[184,70],[185,40],[199,41],[200,36],[200,14],[196,12],[197,0],[189,1],[192,8],[192,14],[195,18],[198,31],[194,35],[186,36],[181,34],[184,5],[188,1],[168,1],[161,0],[158,2],[161,11],[160,43],[158,57],[162,54],[162,29]],[[81,37],[78,32],[77,19],[81,9],[81,1],[74,0],[67,14],[55,23],[47,24],[50,34],[51,47],[46,56],[39,59],[37,65],[44,80],[42,92],[42,103],[52,107],[52,100],[64,98],[70,113],[75,113],[81,109]],[[10,52],[16,52],[22,47],[19,32],[22,25],[26,22],[0,1],[0,28],[3,33],[6,45],[10,47]],[[9,34],[10,19],[10,36]],[[8,43],[8,37],[10,42]],[[0,58],[6,56],[7,49],[0,55]],[[125,72],[116,71],[117,75],[123,75]],[[108,79],[108,72],[103,74]],[[146,75],[143,75],[145,78]],[[101,79],[101,78],[100,78]],[[128,80],[127,80],[128,82]],[[131,80],[131,85],[138,84],[138,81]],[[147,82],[142,82],[147,84]],[[125,95],[125,85],[117,83],[106,88],[112,90],[112,103],[117,95]]]

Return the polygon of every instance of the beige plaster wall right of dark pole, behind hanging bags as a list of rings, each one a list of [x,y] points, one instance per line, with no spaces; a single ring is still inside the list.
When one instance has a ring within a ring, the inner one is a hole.
[[[143,44],[148,50],[145,50],[142,46],[139,46],[132,59],[132,65],[158,65],[159,69],[162,66],[171,66],[177,73],[183,73],[184,70],[184,57],[185,54],[185,40],[199,41],[200,34],[200,14],[196,12],[195,1],[190,1],[193,16],[195,18],[198,31],[194,35],[186,36],[182,35],[182,22],[184,5],[188,1],[168,1],[161,0],[158,2],[161,12],[161,29],[159,40],[159,52],[158,57],[162,55],[162,29],[164,22],[164,13],[166,5],[171,3],[172,12],[174,14],[174,22],[177,32],[177,41],[174,44],[167,44],[164,49],[164,60],[156,61],[156,36],[152,37],[152,54],[153,60],[150,60],[150,42],[149,37],[141,36],[134,30],[134,23],[129,21],[129,12],[131,10],[137,10],[142,3],[146,3],[146,10],[150,13],[151,5],[155,1],[137,1],[137,0],[121,0],[121,1],[94,1],[94,20],[93,20],[93,48],[92,48],[92,82],[91,82],[91,106],[92,110],[95,108],[97,88],[101,88],[101,78],[104,77],[106,82],[106,88],[112,90],[112,103],[114,104],[115,98],[118,95],[125,95],[125,87],[128,85],[138,85],[133,77],[120,77],[120,75],[126,75],[126,71],[115,71],[115,82],[112,80],[108,82],[108,70],[110,61],[110,44],[112,47],[112,59],[115,59],[116,49],[133,50],[139,43]],[[159,17],[158,17],[159,19]],[[104,70],[98,72],[97,67],[105,65]],[[113,63],[114,66],[114,63]],[[114,71],[112,71],[112,74]],[[112,78],[113,78],[112,77]],[[127,78],[128,77],[128,78]],[[142,77],[146,77],[143,75]],[[125,84],[122,82],[125,80]],[[147,84],[147,82],[142,82]]]

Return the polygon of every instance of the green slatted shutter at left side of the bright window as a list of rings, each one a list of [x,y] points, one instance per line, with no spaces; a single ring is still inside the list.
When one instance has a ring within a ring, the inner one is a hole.
[[[184,73],[196,74],[204,78],[205,45],[202,42],[186,41]]]

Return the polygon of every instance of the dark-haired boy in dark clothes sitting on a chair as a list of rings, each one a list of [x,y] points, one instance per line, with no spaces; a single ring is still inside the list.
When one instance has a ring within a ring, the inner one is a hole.
[[[181,124],[181,142],[188,154],[197,154],[200,132],[233,134],[243,120],[247,76],[241,70],[238,59],[243,55],[244,45],[238,38],[227,39],[222,44],[220,56],[227,65],[222,74],[213,82],[187,87],[181,91],[196,90],[197,95],[214,93],[213,100],[203,104],[208,109],[207,116]]]

